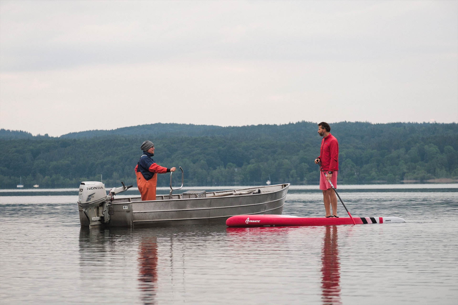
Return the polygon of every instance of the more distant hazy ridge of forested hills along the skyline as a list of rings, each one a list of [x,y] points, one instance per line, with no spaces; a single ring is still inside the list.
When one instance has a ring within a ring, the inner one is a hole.
[[[406,133],[417,134],[423,137],[440,137],[442,129],[450,129],[449,134],[457,129],[457,124],[444,123],[387,123],[371,124],[367,122],[340,122],[333,123],[332,134],[355,139],[373,139],[394,137],[404,139]],[[225,136],[250,139],[253,137],[264,139],[291,139],[306,140],[310,138],[311,130],[316,129],[316,123],[298,122],[283,125],[251,125],[221,127],[214,125],[193,125],[176,123],[155,123],[113,130],[88,130],[63,134],[59,139],[87,139],[112,136],[145,136],[151,139],[167,137],[202,137]],[[316,130],[315,130],[316,132]],[[388,134],[387,134],[388,133]],[[0,139],[44,139],[48,134],[33,136],[25,131],[0,130]]]

